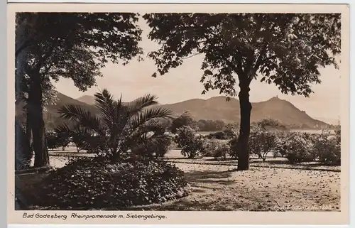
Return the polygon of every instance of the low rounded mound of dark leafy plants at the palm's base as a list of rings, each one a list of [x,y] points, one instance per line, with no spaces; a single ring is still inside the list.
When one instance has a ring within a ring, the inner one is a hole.
[[[53,170],[40,183],[42,206],[70,208],[129,207],[187,195],[182,170],[165,161],[80,158]]]

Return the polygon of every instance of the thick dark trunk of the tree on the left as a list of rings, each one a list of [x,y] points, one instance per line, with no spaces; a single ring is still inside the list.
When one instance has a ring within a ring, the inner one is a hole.
[[[31,85],[28,92],[30,108],[30,123],[33,137],[33,151],[35,152],[35,167],[48,166],[48,148],[45,142],[45,124],[43,121],[42,84],[39,72],[31,74]]]

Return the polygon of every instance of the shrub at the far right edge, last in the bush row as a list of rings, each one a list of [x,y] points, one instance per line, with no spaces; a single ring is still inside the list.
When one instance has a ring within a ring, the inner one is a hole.
[[[341,148],[337,136],[321,134],[314,144],[315,153],[317,153],[320,163],[325,165],[340,165]]]

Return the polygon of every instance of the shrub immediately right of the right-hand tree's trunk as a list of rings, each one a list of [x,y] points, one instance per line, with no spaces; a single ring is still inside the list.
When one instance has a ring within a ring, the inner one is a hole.
[[[266,156],[275,147],[275,139],[276,136],[273,131],[255,127],[249,136],[249,150],[266,161]]]

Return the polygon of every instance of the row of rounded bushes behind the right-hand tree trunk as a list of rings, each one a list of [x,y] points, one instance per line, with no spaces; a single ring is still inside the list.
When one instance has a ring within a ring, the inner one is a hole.
[[[238,158],[237,136],[228,142],[198,136],[189,126],[178,129],[175,142],[187,158],[213,156],[216,159]],[[269,131],[262,126],[253,126],[249,137],[249,152],[266,161],[273,153],[291,163],[319,161],[326,165],[340,165],[340,130],[332,136],[327,131],[309,134],[289,131]]]

